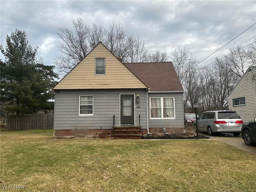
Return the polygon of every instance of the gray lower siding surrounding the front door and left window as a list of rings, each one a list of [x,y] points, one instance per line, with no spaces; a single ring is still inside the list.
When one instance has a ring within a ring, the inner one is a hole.
[[[55,90],[54,130],[68,130],[74,126],[111,129],[113,115],[115,115],[115,125],[120,125],[120,94],[134,94],[135,100],[137,94],[140,95],[140,104],[135,104],[135,125],[139,124],[140,114],[140,125],[146,128],[145,89]],[[79,116],[80,95],[94,96],[93,116]]]

